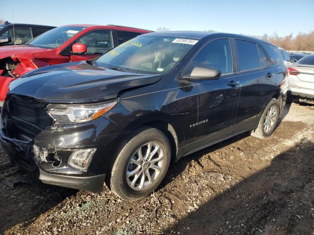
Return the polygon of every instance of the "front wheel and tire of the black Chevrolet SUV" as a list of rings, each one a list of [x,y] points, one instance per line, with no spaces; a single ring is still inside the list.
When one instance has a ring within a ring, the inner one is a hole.
[[[164,133],[155,128],[139,130],[125,142],[113,163],[112,192],[128,201],[146,197],[161,184],[170,159],[171,146]]]

